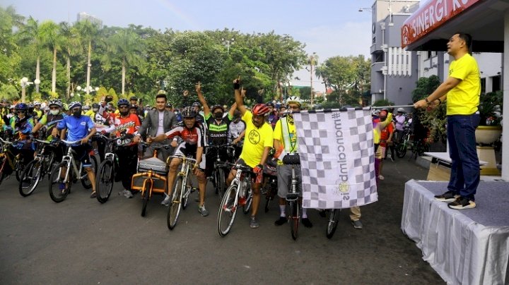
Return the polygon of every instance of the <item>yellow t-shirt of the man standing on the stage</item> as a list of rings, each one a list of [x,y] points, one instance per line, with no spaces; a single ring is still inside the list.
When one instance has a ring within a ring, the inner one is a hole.
[[[447,116],[470,115],[477,111],[481,95],[479,66],[470,54],[452,61],[449,76],[460,79],[460,84],[447,92]]]

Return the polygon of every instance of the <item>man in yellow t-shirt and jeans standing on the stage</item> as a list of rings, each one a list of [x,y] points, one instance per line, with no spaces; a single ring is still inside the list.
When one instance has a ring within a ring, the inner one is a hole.
[[[475,144],[479,126],[481,78],[476,60],[469,54],[472,37],[457,33],[447,42],[447,54],[454,57],[449,77],[428,97],[414,104],[416,108],[435,107],[447,99],[447,141],[452,160],[447,192],[435,199],[449,202],[451,209],[476,207],[474,195],[481,177]]]

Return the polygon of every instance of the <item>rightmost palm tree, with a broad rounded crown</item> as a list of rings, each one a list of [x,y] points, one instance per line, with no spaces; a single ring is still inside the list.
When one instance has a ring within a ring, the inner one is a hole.
[[[122,29],[107,39],[107,53],[103,56],[105,69],[112,66],[112,59],[122,61],[122,95],[125,94],[126,73],[129,66],[136,66],[139,71],[145,70],[144,41],[135,32]]]

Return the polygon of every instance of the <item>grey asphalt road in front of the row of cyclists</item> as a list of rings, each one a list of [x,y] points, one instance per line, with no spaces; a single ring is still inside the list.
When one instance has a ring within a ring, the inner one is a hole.
[[[162,197],[141,217],[140,195],[117,195],[120,183],[103,205],[81,183],[57,204],[47,181],[23,198],[11,176],[0,186],[0,284],[443,284],[399,229],[404,183],[426,174],[413,159],[385,162],[378,202],[361,207],[362,230],[345,210],[329,240],[326,220],[308,210],[314,225],[300,226],[297,241],[288,225],[274,226],[276,202],[259,213],[259,229],[240,213],[222,238],[210,185],[209,217],[189,199],[170,231]]]

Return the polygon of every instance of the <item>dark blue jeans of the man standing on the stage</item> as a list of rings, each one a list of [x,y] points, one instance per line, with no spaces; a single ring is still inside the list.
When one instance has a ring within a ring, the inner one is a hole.
[[[452,160],[447,189],[470,200],[474,200],[481,178],[475,142],[479,120],[479,114],[447,116],[447,140]]]

